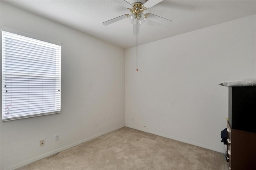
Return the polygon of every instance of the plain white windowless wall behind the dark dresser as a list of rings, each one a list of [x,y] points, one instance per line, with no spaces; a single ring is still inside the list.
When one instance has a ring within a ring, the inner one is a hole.
[[[224,152],[228,117],[222,81],[255,78],[256,17],[125,51],[126,126]],[[170,30],[172,31],[172,30]]]

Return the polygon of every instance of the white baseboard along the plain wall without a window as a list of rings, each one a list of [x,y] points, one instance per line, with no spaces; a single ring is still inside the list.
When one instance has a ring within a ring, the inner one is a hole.
[[[206,149],[209,149],[209,150],[214,150],[216,152],[225,153],[225,150],[220,150],[218,148],[213,148],[213,147],[206,146],[206,145],[203,145],[203,144],[194,143],[194,142],[191,142],[191,141],[188,141],[188,140],[176,138],[176,137],[173,137],[173,136],[168,136],[166,134],[161,134],[161,133],[153,132],[153,131],[150,131],[150,130],[145,130],[145,129],[141,129],[141,128],[132,127],[132,126],[127,125],[127,124],[125,126],[129,127],[129,128],[134,128],[136,130],[140,130],[140,131],[143,131],[143,132],[148,132],[148,133],[151,133],[151,134],[156,134],[158,136],[162,136],[162,137],[165,137],[165,138],[169,138],[169,139],[177,140],[177,141],[180,141],[180,142],[184,142],[184,143],[192,144],[192,145],[195,145],[195,146],[199,146],[201,148],[206,148]]]

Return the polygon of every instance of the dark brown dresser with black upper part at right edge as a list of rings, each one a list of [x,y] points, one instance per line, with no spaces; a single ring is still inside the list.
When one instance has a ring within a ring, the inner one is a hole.
[[[256,170],[256,87],[229,87],[227,161],[232,170]]]

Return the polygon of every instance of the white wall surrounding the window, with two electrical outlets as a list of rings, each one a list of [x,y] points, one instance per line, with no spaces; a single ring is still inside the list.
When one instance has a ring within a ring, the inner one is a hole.
[[[62,113],[1,121],[1,170],[124,126],[124,49],[2,1],[0,15],[1,26],[62,43]]]

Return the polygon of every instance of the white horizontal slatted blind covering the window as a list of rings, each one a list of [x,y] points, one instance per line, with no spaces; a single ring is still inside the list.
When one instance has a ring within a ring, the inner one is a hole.
[[[60,113],[60,45],[2,31],[2,121]]]

